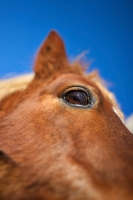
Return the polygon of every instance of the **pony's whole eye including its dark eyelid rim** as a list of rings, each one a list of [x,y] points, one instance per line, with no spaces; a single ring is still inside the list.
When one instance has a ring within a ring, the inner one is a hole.
[[[65,103],[74,107],[90,107],[91,96],[84,89],[75,89],[65,92],[63,95]]]

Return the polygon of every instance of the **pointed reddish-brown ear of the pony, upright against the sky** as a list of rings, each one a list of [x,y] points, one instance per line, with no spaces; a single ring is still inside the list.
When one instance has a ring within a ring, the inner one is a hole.
[[[68,61],[63,40],[55,31],[51,31],[37,54],[35,76],[46,79],[59,72],[65,63]]]

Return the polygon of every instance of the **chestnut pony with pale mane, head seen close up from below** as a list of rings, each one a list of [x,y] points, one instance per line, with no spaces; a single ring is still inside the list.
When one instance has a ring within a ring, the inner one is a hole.
[[[33,69],[0,82],[0,199],[133,200],[133,135],[98,73],[55,31]]]

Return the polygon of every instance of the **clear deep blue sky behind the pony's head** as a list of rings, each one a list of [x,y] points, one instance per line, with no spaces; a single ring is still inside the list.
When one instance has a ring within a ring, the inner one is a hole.
[[[90,70],[99,70],[126,116],[131,114],[133,1],[0,1],[0,77],[31,72],[36,51],[52,29],[64,39],[70,60],[89,51]]]

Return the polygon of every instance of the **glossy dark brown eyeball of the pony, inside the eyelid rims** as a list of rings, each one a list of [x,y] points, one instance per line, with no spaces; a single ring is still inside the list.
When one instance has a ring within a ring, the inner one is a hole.
[[[80,90],[77,91],[69,91],[65,95],[65,100],[70,103],[70,104],[76,104],[76,105],[81,105],[81,106],[86,106],[88,105],[88,97],[87,95]]]

